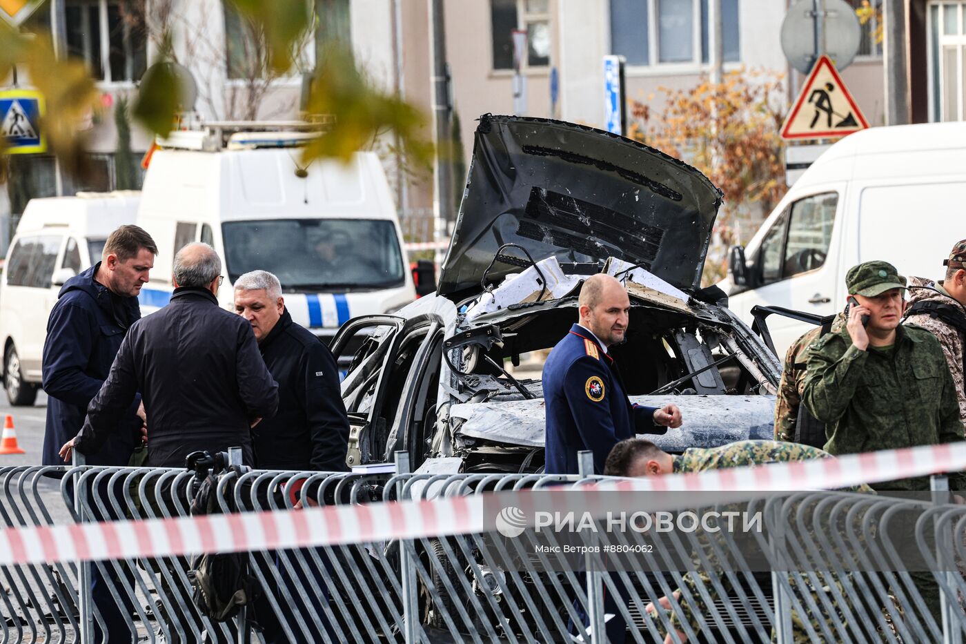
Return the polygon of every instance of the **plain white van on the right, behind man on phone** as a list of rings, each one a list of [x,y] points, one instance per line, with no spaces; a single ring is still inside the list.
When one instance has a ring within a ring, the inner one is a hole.
[[[846,136],[788,190],[747,249],[732,248],[720,286],[752,322],[755,305],[830,315],[845,307],[845,273],[884,259],[900,275],[941,279],[966,239],[966,123],[872,128]],[[768,318],[775,348],[811,325]]]

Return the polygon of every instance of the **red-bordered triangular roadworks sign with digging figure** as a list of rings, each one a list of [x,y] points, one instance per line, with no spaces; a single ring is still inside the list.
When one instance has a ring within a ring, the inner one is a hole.
[[[868,122],[828,56],[811,68],[798,100],[781,126],[781,138],[833,138],[866,130]]]

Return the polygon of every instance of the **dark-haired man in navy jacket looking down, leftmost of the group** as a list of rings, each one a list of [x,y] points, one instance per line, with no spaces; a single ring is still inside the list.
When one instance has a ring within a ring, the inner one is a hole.
[[[100,261],[61,288],[43,343],[43,391],[49,396],[43,465],[63,464],[57,451],[80,431],[121,340],[141,317],[137,296],[156,254],[151,235],[137,226],[121,226],[107,238]],[[89,464],[128,464],[140,435],[141,419],[134,413],[139,404],[135,396],[120,419],[121,430],[91,454]]]

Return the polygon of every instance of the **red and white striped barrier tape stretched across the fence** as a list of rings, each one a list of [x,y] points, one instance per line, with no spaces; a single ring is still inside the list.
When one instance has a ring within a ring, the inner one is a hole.
[[[924,446],[838,458],[774,463],[636,480],[604,481],[553,494],[642,491],[797,491],[836,489],[966,470],[966,443]],[[243,552],[385,542],[480,533],[490,529],[487,501],[532,507],[546,490],[521,490],[299,511],[247,512],[139,521],[25,526],[0,531],[0,566],[100,559],[170,557],[195,552]],[[651,512],[661,507],[636,506]]]

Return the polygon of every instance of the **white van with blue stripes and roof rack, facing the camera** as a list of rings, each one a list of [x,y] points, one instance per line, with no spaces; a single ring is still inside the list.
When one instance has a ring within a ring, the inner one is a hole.
[[[158,142],[137,215],[159,250],[142,314],[167,304],[174,255],[194,241],[224,262],[221,306],[234,310],[232,285],[243,273],[270,271],[293,320],[326,341],[351,317],[415,299],[379,158],[359,152],[345,164],[303,165],[299,147],[314,135],[210,123]]]

